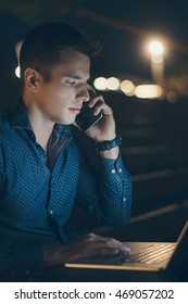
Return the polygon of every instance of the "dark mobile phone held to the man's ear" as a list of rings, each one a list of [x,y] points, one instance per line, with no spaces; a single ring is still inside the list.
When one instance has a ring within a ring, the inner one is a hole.
[[[95,89],[92,89],[91,87],[88,89],[88,91],[90,99],[93,99],[97,96]],[[89,107],[88,103],[89,101],[83,103],[80,113],[76,116],[76,124],[83,131],[89,130],[102,118],[102,111],[100,111],[98,115],[93,115],[95,106]]]

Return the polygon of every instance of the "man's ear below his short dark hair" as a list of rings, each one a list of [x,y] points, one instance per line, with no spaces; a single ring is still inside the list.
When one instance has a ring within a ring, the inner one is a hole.
[[[37,92],[40,83],[41,75],[34,68],[26,68],[24,73],[25,87],[32,92]]]

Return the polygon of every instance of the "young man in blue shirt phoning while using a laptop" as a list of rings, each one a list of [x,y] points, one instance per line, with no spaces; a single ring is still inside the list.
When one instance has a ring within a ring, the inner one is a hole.
[[[0,117],[1,280],[128,251],[114,239],[93,233],[73,239],[65,231],[75,203],[111,226],[125,225],[130,213],[131,182],[112,110],[101,96],[89,101],[92,54],[90,41],[64,23],[35,27],[22,46],[21,96]],[[72,130],[84,102],[103,114],[87,131],[100,172]]]

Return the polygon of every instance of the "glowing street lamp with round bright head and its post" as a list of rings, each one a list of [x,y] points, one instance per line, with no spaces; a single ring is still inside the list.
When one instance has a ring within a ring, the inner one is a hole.
[[[164,87],[164,47],[160,41],[152,41],[149,45],[149,52],[153,83]]]

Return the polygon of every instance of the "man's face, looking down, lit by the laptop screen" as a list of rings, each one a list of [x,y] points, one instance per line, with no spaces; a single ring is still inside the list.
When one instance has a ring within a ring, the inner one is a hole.
[[[83,102],[89,100],[87,81],[90,76],[90,60],[87,55],[66,50],[63,61],[51,71],[51,79],[43,79],[36,94],[42,118],[61,124],[73,124]]]

